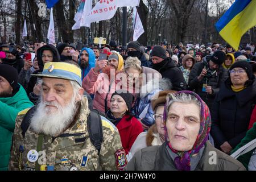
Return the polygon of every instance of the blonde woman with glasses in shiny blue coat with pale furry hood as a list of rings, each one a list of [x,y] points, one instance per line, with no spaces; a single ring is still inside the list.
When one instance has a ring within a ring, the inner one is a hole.
[[[127,58],[125,73],[129,89],[134,89],[133,93],[137,94],[133,113],[142,122],[143,129],[147,130],[155,123],[151,107],[152,97],[162,90],[172,89],[171,81],[168,78],[161,79],[160,73],[154,69],[141,66],[137,57]]]

